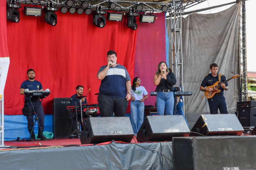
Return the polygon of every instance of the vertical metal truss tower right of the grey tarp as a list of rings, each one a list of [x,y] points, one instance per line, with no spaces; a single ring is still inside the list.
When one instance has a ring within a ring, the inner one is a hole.
[[[247,83],[247,58],[246,58],[246,15],[245,1],[240,2],[240,29],[239,29],[239,69],[240,69],[240,93],[239,101],[248,100],[248,83]]]

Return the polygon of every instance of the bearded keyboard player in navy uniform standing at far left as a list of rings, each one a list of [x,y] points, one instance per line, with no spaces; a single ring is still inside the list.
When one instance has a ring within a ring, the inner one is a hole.
[[[23,81],[20,86],[20,95],[25,95],[24,91],[25,89],[29,90],[44,90],[42,84],[39,81],[35,80],[36,74],[33,69],[28,69],[27,71],[28,80]],[[34,110],[37,112],[40,107],[40,101],[39,98],[31,98],[31,102],[33,104]],[[32,104],[29,101],[29,97],[25,96],[25,103],[24,108],[22,109],[23,115],[27,117],[28,120],[28,131],[29,133],[32,132],[33,126],[34,126],[34,111]],[[44,130],[44,109],[43,106],[40,107],[40,110],[38,111],[39,118],[38,122],[41,127],[41,130],[43,132]],[[44,139],[43,134],[41,133],[39,126],[38,126],[38,136],[37,138]],[[35,133],[34,131],[31,133],[31,139],[35,140]]]

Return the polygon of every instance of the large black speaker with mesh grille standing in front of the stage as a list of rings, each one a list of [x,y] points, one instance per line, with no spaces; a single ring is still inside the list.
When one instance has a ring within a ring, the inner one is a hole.
[[[256,136],[173,138],[174,170],[256,170]]]

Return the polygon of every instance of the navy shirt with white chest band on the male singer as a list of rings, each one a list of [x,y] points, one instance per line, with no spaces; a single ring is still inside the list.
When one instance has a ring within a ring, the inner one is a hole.
[[[100,67],[98,74],[108,65]],[[109,67],[108,72],[100,84],[100,93],[111,97],[126,97],[126,81],[131,81],[126,68],[117,64],[116,67]]]

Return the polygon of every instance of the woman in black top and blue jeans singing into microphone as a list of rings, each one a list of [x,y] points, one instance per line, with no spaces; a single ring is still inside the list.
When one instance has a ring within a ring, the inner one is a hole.
[[[167,64],[164,61],[158,64],[158,71],[154,76],[154,84],[157,86],[157,115],[164,115],[164,108],[166,115],[172,115],[174,105],[172,86],[176,84],[176,77],[172,72],[169,72]]]

